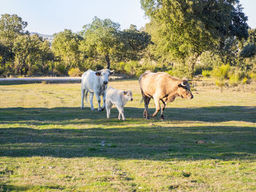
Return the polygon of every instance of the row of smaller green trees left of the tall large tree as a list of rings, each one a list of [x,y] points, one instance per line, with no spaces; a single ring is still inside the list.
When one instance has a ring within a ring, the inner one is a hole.
[[[152,43],[151,36],[136,26],[121,31],[118,23],[97,17],[78,33],[65,29],[53,34],[52,45],[24,31],[26,26],[18,15],[1,15],[1,76],[79,75],[87,69],[110,69],[121,61],[139,61]]]

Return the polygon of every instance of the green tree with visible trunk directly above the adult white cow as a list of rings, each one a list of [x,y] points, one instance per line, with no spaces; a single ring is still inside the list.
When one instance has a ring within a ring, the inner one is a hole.
[[[83,36],[80,50],[89,57],[104,56],[107,68],[110,69],[110,58],[118,51],[119,28],[120,25],[110,19],[101,20],[95,17],[91,24],[83,26],[83,31],[80,32]]]

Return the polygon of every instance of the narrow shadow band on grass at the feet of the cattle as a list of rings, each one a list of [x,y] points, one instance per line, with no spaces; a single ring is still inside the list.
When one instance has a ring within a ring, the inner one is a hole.
[[[152,114],[154,109],[149,109]],[[117,110],[111,110],[111,118],[117,118]],[[135,107],[125,107],[124,114],[127,118],[141,118],[143,120],[143,109]],[[165,120],[189,120],[203,122],[223,122],[223,121],[245,121],[256,122],[256,107],[244,106],[222,106],[222,107],[198,107],[198,108],[169,108],[165,110]],[[159,117],[159,115],[158,115]],[[152,118],[157,119],[157,118]],[[79,107],[55,107],[55,108],[0,108],[0,120],[5,123],[9,121],[15,122],[20,120],[36,120],[38,123],[50,124],[67,120],[86,120],[86,123],[98,124],[108,123],[106,112],[98,112],[86,107],[85,110],[80,110]],[[141,121],[140,120],[140,121]],[[145,121],[143,121],[145,123]],[[63,122],[62,122],[63,123]],[[75,122],[72,122],[75,123]],[[83,121],[78,121],[83,123]]]

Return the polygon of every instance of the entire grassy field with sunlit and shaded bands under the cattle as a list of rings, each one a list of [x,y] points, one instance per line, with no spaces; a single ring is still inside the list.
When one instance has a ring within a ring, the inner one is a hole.
[[[0,191],[256,191],[255,88],[195,82],[146,120],[137,80],[110,85],[125,122],[80,110],[80,84],[0,85]]]

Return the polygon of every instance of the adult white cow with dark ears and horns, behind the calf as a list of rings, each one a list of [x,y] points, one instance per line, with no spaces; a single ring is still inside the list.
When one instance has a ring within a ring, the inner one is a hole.
[[[86,94],[86,101],[87,101],[88,92],[90,93],[89,99],[90,99],[91,110],[92,111],[94,110],[94,104],[92,102],[94,98],[94,93],[98,101],[98,111],[102,111],[105,109],[106,89],[108,87],[108,77],[110,76],[110,74],[113,74],[113,71],[110,71],[109,69],[102,69],[97,72],[88,70],[83,73],[82,81],[81,81],[81,92],[82,92],[81,109],[83,109],[83,99],[85,94]],[[103,99],[102,107],[100,107],[100,101],[101,101],[100,96],[102,96],[102,99]]]

